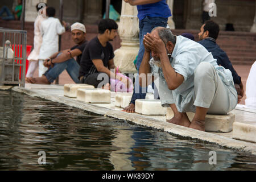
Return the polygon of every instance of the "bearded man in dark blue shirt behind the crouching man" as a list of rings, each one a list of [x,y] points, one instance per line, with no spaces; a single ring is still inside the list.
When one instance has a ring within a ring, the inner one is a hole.
[[[221,65],[232,72],[234,84],[238,93],[238,103],[240,103],[244,93],[241,77],[238,76],[236,70],[233,68],[226,52],[224,52],[216,43],[219,32],[220,27],[218,24],[213,22],[213,20],[208,20],[201,26],[200,33],[198,34],[200,41],[198,43],[212,53],[214,59],[217,59],[218,65]]]

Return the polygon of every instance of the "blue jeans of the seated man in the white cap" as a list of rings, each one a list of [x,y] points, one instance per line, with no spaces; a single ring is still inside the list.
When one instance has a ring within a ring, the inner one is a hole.
[[[76,84],[80,84],[80,80],[78,78],[80,65],[73,58],[62,63],[55,63],[53,68],[49,68],[44,73],[44,76],[46,76],[47,80],[52,83],[65,69],[67,70],[72,80]]]

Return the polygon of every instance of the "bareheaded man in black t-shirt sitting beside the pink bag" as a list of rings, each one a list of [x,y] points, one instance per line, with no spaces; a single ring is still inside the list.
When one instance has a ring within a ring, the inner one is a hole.
[[[102,19],[98,24],[98,36],[90,40],[82,52],[79,72],[81,83],[93,85],[95,88],[110,89],[111,75],[129,86],[126,78],[116,74],[113,47],[109,43],[117,36],[117,28],[117,23],[112,19]]]

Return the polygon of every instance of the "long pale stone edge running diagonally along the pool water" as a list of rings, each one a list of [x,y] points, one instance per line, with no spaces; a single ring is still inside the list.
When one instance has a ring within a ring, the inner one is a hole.
[[[256,144],[254,143],[243,142],[241,140],[222,137],[220,135],[212,133],[189,129],[187,127],[159,121],[158,119],[144,117],[143,115],[137,113],[125,113],[123,111],[111,110],[101,106],[86,104],[84,102],[72,100],[71,98],[67,98],[64,96],[52,96],[40,90],[29,90],[19,86],[15,86],[11,90],[19,93],[24,93],[32,97],[40,97],[45,100],[59,102],[61,104],[89,111],[91,113],[104,115],[105,117],[117,118],[133,122],[137,125],[152,127],[157,130],[166,131],[167,133],[175,136],[214,143],[218,144],[221,147],[231,148],[239,152],[245,152],[246,154],[256,155]]]

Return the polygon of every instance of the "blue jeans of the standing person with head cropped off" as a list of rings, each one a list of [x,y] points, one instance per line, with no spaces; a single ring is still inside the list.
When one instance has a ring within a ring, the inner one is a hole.
[[[155,27],[166,27],[167,21],[168,21],[168,18],[150,17],[150,16],[146,16],[146,18],[139,20],[139,53],[138,53],[138,59],[137,59],[137,65],[136,65],[138,71],[139,71],[139,67],[141,66],[141,62],[142,62],[144,51],[145,51],[145,48],[143,45],[144,35],[146,35],[147,32],[150,33],[152,29]],[[154,83],[152,84],[152,88],[154,89]],[[146,94],[147,94],[147,88],[142,88],[141,86],[139,86],[139,77],[136,77],[133,96],[131,97],[130,104],[135,104],[135,101],[137,99],[144,99],[146,97]]]

